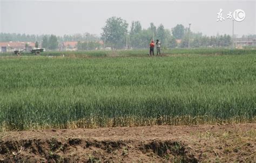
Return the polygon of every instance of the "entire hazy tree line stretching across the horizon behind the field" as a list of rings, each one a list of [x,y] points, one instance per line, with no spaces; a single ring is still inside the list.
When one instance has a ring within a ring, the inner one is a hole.
[[[76,41],[78,50],[93,50],[102,47],[113,49],[144,49],[149,47],[151,40],[159,39],[162,47],[228,47],[232,45],[230,35],[206,36],[200,32],[190,31],[182,24],[177,24],[172,29],[165,29],[163,24],[155,26],[150,23],[148,28],[143,29],[139,21],[133,21],[130,29],[129,24],[120,17],[110,17],[103,26],[100,37],[90,33],[75,35],[25,35],[16,33],[0,33],[0,42],[20,41],[36,42],[46,49],[57,49],[58,43]],[[256,35],[242,36],[244,39],[256,39]],[[99,44],[104,42],[104,46]]]

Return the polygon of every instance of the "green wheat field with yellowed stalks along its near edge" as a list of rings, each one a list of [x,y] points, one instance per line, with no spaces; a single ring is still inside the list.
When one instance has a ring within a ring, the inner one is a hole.
[[[0,131],[255,123],[255,101],[256,50],[0,55]]]

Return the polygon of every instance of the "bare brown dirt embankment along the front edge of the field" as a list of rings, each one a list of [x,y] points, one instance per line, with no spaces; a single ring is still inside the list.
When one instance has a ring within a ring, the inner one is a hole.
[[[0,133],[0,162],[256,161],[256,124]]]

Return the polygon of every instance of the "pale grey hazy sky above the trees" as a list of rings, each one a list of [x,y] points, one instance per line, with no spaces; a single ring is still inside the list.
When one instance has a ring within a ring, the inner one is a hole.
[[[177,24],[204,35],[232,35],[232,20],[217,22],[217,12],[242,9],[246,18],[234,22],[236,35],[256,34],[256,1],[53,1],[0,0],[0,32],[26,34],[94,33],[100,35],[106,19],[122,17],[131,24],[140,21],[143,28],[153,22],[166,29]],[[130,29],[130,27],[129,27]]]

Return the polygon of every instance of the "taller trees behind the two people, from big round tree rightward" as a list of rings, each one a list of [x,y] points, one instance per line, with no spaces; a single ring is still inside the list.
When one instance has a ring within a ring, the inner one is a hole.
[[[162,47],[188,47],[190,35],[191,47],[226,47],[232,44],[230,35],[203,36],[202,33],[189,32],[182,24],[176,25],[172,30],[165,29],[163,24],[156,27],[150,23],[149,28],[142,29],[139,21],[131,23],[130,31],[128,24],[122,18],[111,17],[107,19],[103,27],[102,40],[107,46],[117,49],[123,48],[147,48],[151,40],[159,39]],[[190,34],[189,34],[190,33]],[[180,44],[177,40],[181,40]]]

